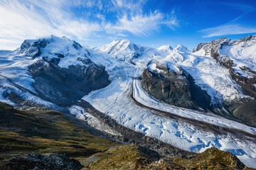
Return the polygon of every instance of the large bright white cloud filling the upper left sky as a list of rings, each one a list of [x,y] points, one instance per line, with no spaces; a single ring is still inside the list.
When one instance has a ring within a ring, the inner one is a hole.
[[[4,42],[6,38],[18,43],[48,35],[80,39],[102,30],[100,23],[74,19],[68,5],[68,1],[1,1],[0,48],[14,48],[14,43]]]

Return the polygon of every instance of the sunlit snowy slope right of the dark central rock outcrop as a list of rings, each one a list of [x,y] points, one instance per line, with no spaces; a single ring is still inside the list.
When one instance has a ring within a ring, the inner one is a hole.
[[[178,45],[169,55],[158,57],[157,60],[171,70],[182,67],[191,74],[196,84],[211,96],[213,105],[247,97],[230,77],[228,69],[218,64],[212,57],[196,55],[186,47]]]

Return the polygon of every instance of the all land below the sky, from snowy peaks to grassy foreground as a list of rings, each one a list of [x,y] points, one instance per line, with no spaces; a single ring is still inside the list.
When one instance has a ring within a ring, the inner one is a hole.
[[[0,101],[2,169],[256,168],[256,35],[24,40],[0,51]]]

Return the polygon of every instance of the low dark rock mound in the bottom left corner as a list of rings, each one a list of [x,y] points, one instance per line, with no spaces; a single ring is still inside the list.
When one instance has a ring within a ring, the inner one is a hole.
[[[67,154],[48,154],[46,156],[42,154],[26,154],[24,156],[16,156],[2,164],[0,169],[3,170],[79,170],[84,166],[76,159],[70,159]]]

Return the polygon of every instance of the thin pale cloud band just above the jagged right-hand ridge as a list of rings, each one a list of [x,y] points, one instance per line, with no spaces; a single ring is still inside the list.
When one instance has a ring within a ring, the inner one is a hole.
[[[256,28],[249,28],[240,26],[238,24],[228,24],[223,26],[218,26],[214,28],[208,28],[201,30],[201,33],[206,35],[203,38],[211,38],[223,35],[235,35],[235,34],[244,34],[244,33],[256,33]]]

